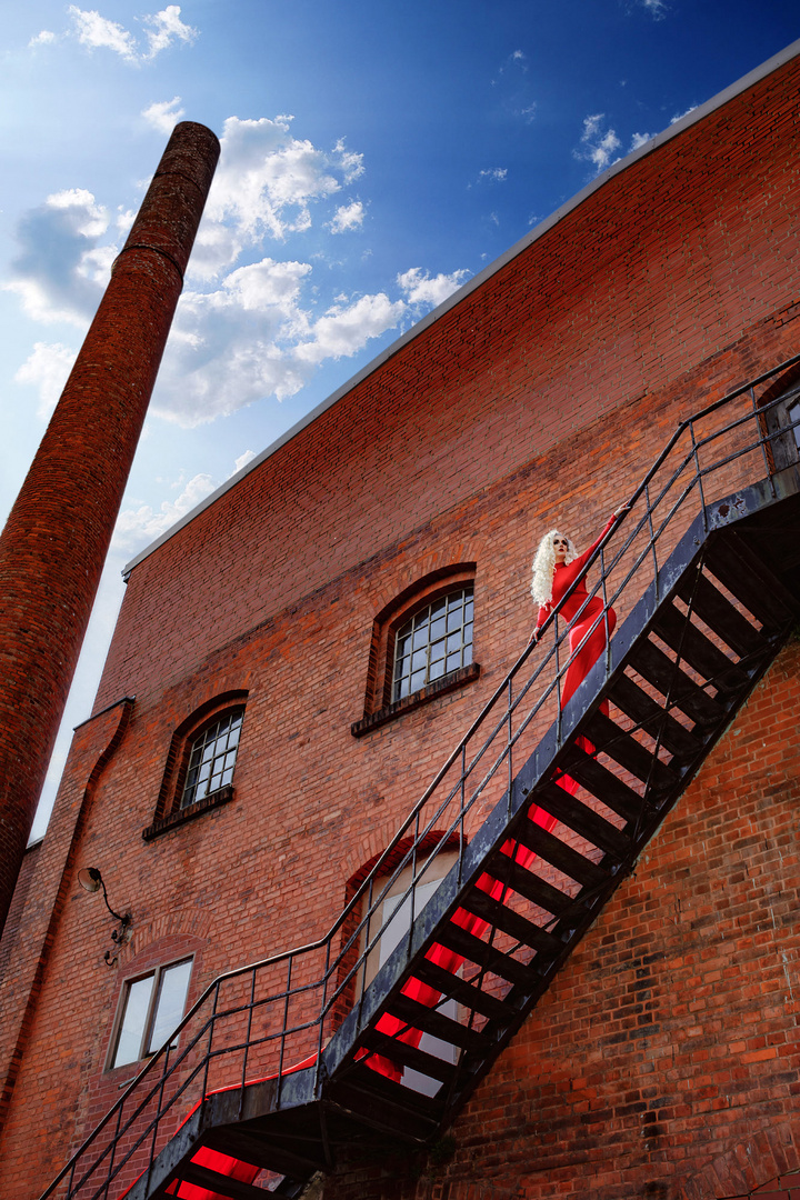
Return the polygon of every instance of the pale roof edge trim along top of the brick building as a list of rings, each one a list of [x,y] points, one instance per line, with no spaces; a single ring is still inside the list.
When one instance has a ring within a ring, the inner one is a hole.
[[[512,258],[516,258],[517,254],[521,254],[523,252],[523,250],[527,250],[528,246],[533,245],[533,242],[537,241],[541,236],[548,233],[548,230],[552,229],[553,226],[563,221],[564,217],[567,216],[567,214],[572,212],[581,204],[583,204],[584,200],[587,200],[596,191],[603,187],[610,179],[614,179],[616,175],[621,174],[621,172],[626,170],[634,162],[638,162],[639,158],[645,158],[648,155],[652,154],[655,150],[662,146],[664,142],[672,140],[672,138],[678,137],[678,134],[682,133],[684,130],[687,130],[692,125],[696,125],[698,121],[702,121],[705,116],[709,115],[709,113],[715,112],[717,108],[722,108],[723,104],[727,104],[729,100],[734,98],[734,96],[738,96],[740,95],[740,92],[746,91],[748,88],[752,88],[753,84],[758,83],[760,79],[764,79],[774,71],[777,71],[778,67],[782,67],[786,62],[789,62],[793,58],[796,58],[798,54],[800,54],[800,38],[798,38],[798,41],[795,42],[792,42],[789,46],[780,50],[777,54],[774,54],[771,59],[766,60],[766,62],[762,62],[760,66],[754,67],[746,76],[742,76],[741,79],[736,79],[735,83],[732,83],[723,91],[717,92],[717,95],[712,96],[711,100],[706,100],[704,104],[698,104],[697,108],[693,108],[690,113],[686,114],[686,116],[682,116],[679,121],[675,121],[674,125],[669,125],[661,133],[657,133],[649,142],[645,142],[643,146],[639,146],[638,150],[633,150],[631,154],[626,155],[625,158],[620,158],[607,170],[602,172],[602,174],[597,175],[596,179],[593,179],[590,184],[587,184],[584,188],[582,188],[573,197],[566,200],[566,203],[564,203],[559,209],[557,209],[555,212],[552,212],[549,217],[546,217],[545,221],[540,222],[540,224],[537,224],[534,229],[531,229],[523,238],[521,238],[519,241],[515,242],[515,245],[511,246],[510,250],[506,250],[505,253],[500,254],[499,258],[495,258],[493,263],[489,263],[489,265],[485,266],[482,271],[480,271],[477,275],[474,275],[471,280],[468,280],[467,283],[464,283],[461,288],[458,288],[457,292],[453,292],[452,295],[447,296],[447,299],[444,300],[440,305],[438,305],[435,308],[432,308],[426,317],[422,317],[421,320],[419,320],[415,325],[413,325],[404,334],[402,334],[401,337],[398,337],[395,342],[391,343],[391,346],[387,346],[384,350],[381,350],[380,354],[378,354],[374,359],[372,359],[365,367],[362,367],[354,376],[351,376],[347,380],[347,383],[343,383],[341,388],[337,388],[336,391],[331,392],[331,395],[327,396],[326,400],[317,404],[315,408],[312,408],[309,413],[306,413],[306,415],[301,418],[296,422],[296,425],[293,425],[290,430],[287,430],[285,433],[282,433],[279,438],[277,438],[275,442],[271,443],[271,445],[266,448],[266,450],[261,450],[259,455],[257,455],[254,458],[251,458],[251,461],[247,463],[246,467],[242,467],[242,469],[236,472],[235,475],[231,475],[230,479],[227,479],[224,481],[224,484],[221,484],[215,492],[211,492],[211,494],[206,496],[204,500],[200,500],[200,503],[196,508],[193,508],[191,512],[187,512],[186,516],[181,517],[180,521],[176,521],[175,524],[172,526],[166,533],[162,533],[161,536],[156,538],[155,541],[150,542],[149,546],[145,546],[145,548],[142,550],[134,558],[132,558],[131,562],[122,569],[124,578],[127,580],[128,575],[131,574],[134,566],[138,566],[139,563],[142,563],[145,558],[152,554],[155,550],[158,550],[160,546],[163,546],[163,544],[168,541],[172,536],[174,536],[174,534],[176,534],[179,529],[182,529],[191,521],[193,521],[196,516],[203,512],[204,509],[210,508],[210,505],[216,503],[216,500],[218,500],[221,496],[224,496],[224,493],[228,492],[231,487],[235,487],[236,484],[240,481],[240,479],[243,479],[245,475],[247,475],[251,470],[254,470],[257,467],[260,467],[260,464],[266,458],[270,458],[273,454],[276,454],[282,446],[287,444],[287,442],[291,442],[293,438],[297,437],[297,434],[301,433],[302,430],[306,428],[306,426],[315,421],[317,418],[321,415],[321,413],[326,412],[329,408],[336,404],[336,402],[341,400],[342,396],[347,395],[347,392],[351,391],[353,388],[360,384],[362,379],[366,379],[367,376],[371,376],[373,373],[373,371],[377,371],[378,367],[383,366],[383,364],[386,362],[387,359],[397,354],[397,352],[402,349],[404,346],[407,346],[408,342],[413,341],[413,338],[422,334],[426,329],[428,329],[429,325],[432,325],[435,320],[443,317],[446,312],[450,312],[451,308],[455,308],[456,305],[461,304],[462,300],[464,300],[471,292],[475,292],[476,288],[480,288],[481,284],[486,282],[486,280],[491,278],[497,271],[501,270],[506,265],[506,263],[511,262]]]

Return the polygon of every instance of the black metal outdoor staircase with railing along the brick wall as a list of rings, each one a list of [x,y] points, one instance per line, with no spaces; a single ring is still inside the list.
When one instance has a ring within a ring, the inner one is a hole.
[[[440,1136],[796,620],[800,431],[759,401],[799,361],[648,472],[595,552],[622,620],[569,704],[557,611],[331,931],[215,980],[42,1200],[255,1200],[261,1170],[299,1195],[342,1151]]]

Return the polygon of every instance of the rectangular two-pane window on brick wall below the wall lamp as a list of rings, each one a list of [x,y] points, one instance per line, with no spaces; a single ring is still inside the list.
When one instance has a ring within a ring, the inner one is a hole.
[[[125,982],[109,1069],[146,1058],[164,1044],[184,1016],[191,974],[188,958]]]

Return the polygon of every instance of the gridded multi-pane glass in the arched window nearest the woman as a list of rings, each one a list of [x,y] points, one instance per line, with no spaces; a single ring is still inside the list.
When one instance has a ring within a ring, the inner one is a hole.
[[[392,701],[473,661],[473,587],[449,592],[397,630]]]

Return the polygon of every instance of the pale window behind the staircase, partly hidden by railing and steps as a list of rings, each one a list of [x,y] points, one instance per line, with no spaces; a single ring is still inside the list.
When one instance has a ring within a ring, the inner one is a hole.
[[[421,881],[414,889],[414,919],[420,916],[422,908],[456,862],[456,854],[449,852],[438,854],[437,859],[425,872]],[[411,896],[408,895],[403,900],[403,895],[410,882],[411,868],[409,866],[404,871],[401,871],[397,876],[395,882],[391,884],[389,893],[384,896],[383,902],[375,911],[375,914],[372,917],[371,926],[373,930],[383,925],[384,922],[387,922],[387,924],[383,931],[380,941],[367,958],[367,983],[371,983],[372,979],[374,979],[380,967],[389,960],[392,950],[399,944],[403,936],[408,934],[410,929]],[[374,889],[378,894],[383,890],[384,884],[385,881],[375,880]],[[455,1000],[443,1001],[437,1007],[437,1012],[443,1013],[445,1016],[450,1016],[453,1021],[458,1020],[458,1004]],[[443,1042],[440,1038],[433,1037],[432,1033],[422,1034],[420,1050],[423,1050],[426,1054],[429,1054],[435,1058],[443,1058],[445,1062],[455,1063],[458,1057],[457,1046],[451,1045],[449,1042]],[[410,1067],[405,1067],[403,1069],[402,1082],[407,1087],[414,1088],[415,1092],[423,1092],[426,1096],[434,1096],[441,1087],[440,1080],[431,1079],[429,1075],[423,1075],[419,1070],[413,1070]]]

